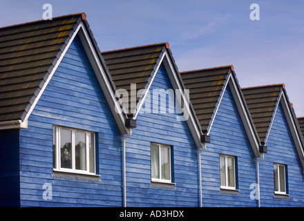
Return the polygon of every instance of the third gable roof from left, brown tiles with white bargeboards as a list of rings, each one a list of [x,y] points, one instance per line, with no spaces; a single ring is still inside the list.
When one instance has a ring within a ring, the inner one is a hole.
[[[209,134],[227,85],[234,95],[249,142],[256,157],[260,156],[260,140],[240,90],[234,66],[219,66],[180,73],[184,86],[190,91],[190,100],[203,133]]]

